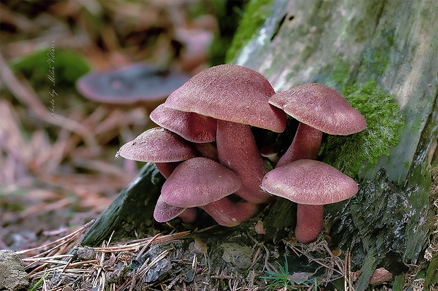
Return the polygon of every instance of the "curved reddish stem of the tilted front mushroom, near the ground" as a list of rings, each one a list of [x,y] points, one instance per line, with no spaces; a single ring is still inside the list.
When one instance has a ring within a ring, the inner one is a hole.
[[[220,225],[232,227],[247,221],[257,211],[257,204],[250,202],[234,203],[227,197],[202,206]]]

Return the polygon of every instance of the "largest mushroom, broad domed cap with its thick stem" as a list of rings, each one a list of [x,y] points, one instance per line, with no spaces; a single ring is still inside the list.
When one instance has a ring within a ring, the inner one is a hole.
[[[249,202],[271,200],[259,187],[266,170],[249,125],[275,132],[285,129],[285,113],[267,102],[274,93],[260,73],[228,64],[203,70],[165,102],[166,107],[218,120],[219,161],[239,175],[242,187],[236,194]]]

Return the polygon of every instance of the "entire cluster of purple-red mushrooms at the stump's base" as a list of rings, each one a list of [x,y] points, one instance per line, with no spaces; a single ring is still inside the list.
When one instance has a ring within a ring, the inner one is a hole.
[[[251,127],[283,132],[286,113],[300,125],[268,171]],[[295,233],[310,242],[322,228],[322,204],[357,192],[353,179],[316,161],[322,132],[350,135],[367,125],[330,87],[304,84],[276,93],[255,70],[220,65],[172,92],[150,119],[159,127],[124,144],[119,155],[156,163],[167,179],[154,212],[159,222],[194,221],[197,207],[220,225],[235,226],[280,196],[300,205]]]

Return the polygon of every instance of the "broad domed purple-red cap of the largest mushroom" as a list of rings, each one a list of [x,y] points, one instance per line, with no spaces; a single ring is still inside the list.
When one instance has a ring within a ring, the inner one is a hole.
[[[274,89],[263,75],[237,65],[220,65],[194,75],[165,105],[219,120],[282,132],[286,116],[268,104]]]

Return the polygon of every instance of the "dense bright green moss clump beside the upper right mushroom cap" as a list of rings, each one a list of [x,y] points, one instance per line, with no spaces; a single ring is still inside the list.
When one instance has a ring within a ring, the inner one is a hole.
[[[355,176],[365,162],[375,164],[389,148],[398,144],[405,120],[398,102],[370,79],[362,87],[343,86],[341,93],[367,120],[367,128],[348,136],[329,135],[321,146],[324,162]]]

